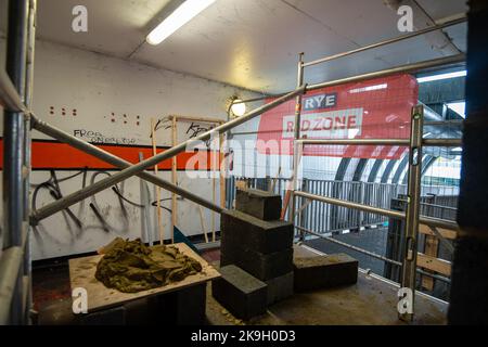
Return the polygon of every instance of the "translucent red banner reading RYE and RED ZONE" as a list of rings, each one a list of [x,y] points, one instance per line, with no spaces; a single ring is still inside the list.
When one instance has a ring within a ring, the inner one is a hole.
[[[304,95],[301,137],[308,139],[408,139],[419,86],[410,75],[328,87]],[[268,102],[272,99],[268,100]],[[295,101],[261,115],[257,149],[262,154],[293,154]],[[306,145],[304,155],[399,158],[404,147]]]

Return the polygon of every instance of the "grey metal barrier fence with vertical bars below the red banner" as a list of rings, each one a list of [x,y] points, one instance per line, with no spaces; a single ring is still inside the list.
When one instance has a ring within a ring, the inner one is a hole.
[[[236,178],[227,179],[226,207],[232,208],[235,198],[235,181],[245,181],[247,188],[268,191],[271,181],[275,180],[274,193],[280,194],[284,200],[286,185],[290,181],[285,178]],[[422,187],[423,191],[431,191],[432,187]],[[330,181],[304,179],[301,181],[301,191],[321,195],[350,201],[369,206],[389,209],[391,200],[401,198],[406,192],[406,185],[390,183],[370,183],[352,181]],[[298,203],[298,206],[307,204],[305,200]],[[435,217],[439,219],[455,219],[457,196],[422,196],[421,215]],[[295,217],[295,224],[301,228],[313,230],[318,233],[332,233],[347,229],[359,229],[382,224],[388,221],[388,217],[374,213],[350,209],[347,207],[323,204],[318,201],[311,201],[304,208],[301,215]]]

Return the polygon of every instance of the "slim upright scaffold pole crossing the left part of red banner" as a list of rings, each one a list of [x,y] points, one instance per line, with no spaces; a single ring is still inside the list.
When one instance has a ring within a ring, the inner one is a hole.
[[[297,88],[304,85],[304,53],[298,54],[298,76],[297,76]],[[296,97],[295,104],[295,130],[294,130],[294,141],[293,141],[293,177],[292,177],[292,206],[290,208],[290,221],[295,226],[295,210],[296,210],[296,197],[295,190],[297,189],[298,182],[298,164],[299,164],[299,155],[298,155],[298,146],[301,144],[298,143],[300,139],[300,124],[301,124],[301,100],[303,95],[298,94]],[[305,233],[300,231],[300,241],[305,239]]]

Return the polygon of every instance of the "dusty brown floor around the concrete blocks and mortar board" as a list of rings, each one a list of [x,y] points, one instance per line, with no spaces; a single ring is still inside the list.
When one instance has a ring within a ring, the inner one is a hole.
[[[313,255],[298,248],[300,256]],[[210,250],[203,255],[218,268],[219,252]],[[34,298],[36,308],[44,311],[52,304],[69,301],[69,278],[66,268],[35,271]],[[211,284],[207,290],[207,323],[213,325],[396,325],[403,324],[397,318],[397,287],[388,282],[359,273],[358,283],[350,286],[300,293],[271,306],[267,313],[248,322],[230,314],[211,296]],[[446,324],[447,305],[416,296],[413,324]],[[48,312],[46,312],[48,313]],[[48,316],[57,314],[53,310]],[[53,322],[53,319],[48,319]],[[54,320],[55,321],[55,320]]]

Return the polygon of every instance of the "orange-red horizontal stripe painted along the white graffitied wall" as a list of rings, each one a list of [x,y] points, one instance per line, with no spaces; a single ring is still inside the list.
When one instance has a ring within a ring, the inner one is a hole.
[[[99,149],[110,152],[127,162],[139,163],[139,153],[142,153],[144,158],[153,156],[153,150],[147,146],[125,146],[125,145],[97,145]],[[165,152],[166,149],[157,149],[157,153]],[[197,160],[197,155],[200,159]],[[178,170],[209,170],[218,169],[219,154],[215,153],[217,158],[213,160],[213,153],[209,151],[201,151],[198,153],[180,153],[177,156]],[[193,158],[193,163],[190,159]],[[215,163],[215,165],[211,165]],[[72,147],[68,144],[54,141],[33,141],[33,169],[114,169],[103,160],[95,158],[82,151]],[[188,167],[190,165],[191,167]],[[171,159],[159,163],[160,170],[171,169]],[[0,169],[3,169],[3,139],[0,139]],[[153,169],[153,168],[150,168]]]

